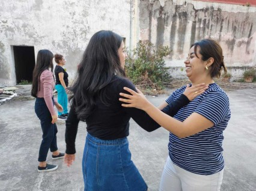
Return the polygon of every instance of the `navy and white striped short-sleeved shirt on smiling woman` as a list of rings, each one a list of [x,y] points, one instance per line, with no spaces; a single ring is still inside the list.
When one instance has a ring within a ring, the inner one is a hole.
[[[186,86],[183,86],[175,90],[166,102],[169,104],[177,99],[185,89]],[[178,138],[170,133],[169,156],[175,165],[187,171],[203,175],[215,174],[224,168],[223,131],[230,120],[227,94],[218,84],[209,84],[204,93],[181,108],[174,118],[183,122],[194,112],[206,117],[214,125],[186,138]]]

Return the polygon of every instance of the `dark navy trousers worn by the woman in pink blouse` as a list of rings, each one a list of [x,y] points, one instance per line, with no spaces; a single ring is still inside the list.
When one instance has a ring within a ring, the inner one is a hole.
[[[53,99],[52,102],[54,104]],[[38,156],[38,161],[43,162],[46,161],[49,148],[51,152],[58,150],[56,137],[58,129],[55,123],[52,124],[52,115],[47,108],[44,98],[35,99],[35,114],[40,119],[41,129],[43,131],[43,140],[41,141]]]

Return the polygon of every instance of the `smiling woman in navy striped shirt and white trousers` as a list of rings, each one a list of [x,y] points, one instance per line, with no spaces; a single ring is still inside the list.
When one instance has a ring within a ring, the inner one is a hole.
[[[123,107],[146,111],[169,134],[169,156],[163,169],[160,190],[220,190],[224,171],[222,156],[223,131],[230,120],[227,94],[213,77],[227,73],[222,48],[216,41],[201,40],[192,44],[187,59],[186,75],[190,86],[209,84],[209,88],[181,108],[172,118],[159,110],[180,96],[186,86],[175,90],[159,108],[139,92],[126,89],[132,95],[120,93],[129,99],[120,101]],[[138,90],[139,91],[139,90]],[[199,92],[195,92],[199,93]]]

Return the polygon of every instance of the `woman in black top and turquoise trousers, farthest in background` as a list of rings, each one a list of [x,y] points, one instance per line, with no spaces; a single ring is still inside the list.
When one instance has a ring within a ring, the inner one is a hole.
[[[67,74],[66,69],[62,68],[66,65],[66,60],[64,56],[61,54],[54,55],[55,62],[57,65],[54,69],[54,74],[56,78],[56,85],[55,89],[58,92],[58,102],[63,107],[63,111],[58,111],[58,119],[59,120],[66,120],[69,114],[67,109],[67,86],[69,86],[69,74]]]

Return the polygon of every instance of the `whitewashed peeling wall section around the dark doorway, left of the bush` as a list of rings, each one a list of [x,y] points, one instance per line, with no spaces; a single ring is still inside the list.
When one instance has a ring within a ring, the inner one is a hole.
[[[117,32],[129,47],[130,8],[130,0],[1,0],[0,84],[16,84],[11,46],[34,46],[35,57],[40,49],[64,55],[71,79],[95,32]]]

